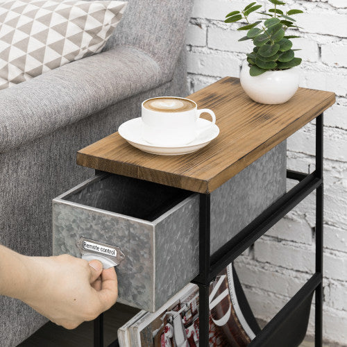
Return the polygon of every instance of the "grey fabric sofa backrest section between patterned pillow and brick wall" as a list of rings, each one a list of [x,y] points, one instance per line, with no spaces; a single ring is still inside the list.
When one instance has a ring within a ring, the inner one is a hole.
[[[124,17],[105,49],[117,45],[142,49],[158,62],[166,81],[169,81],[180,53],[192,5],[191,0],[130,0]]]

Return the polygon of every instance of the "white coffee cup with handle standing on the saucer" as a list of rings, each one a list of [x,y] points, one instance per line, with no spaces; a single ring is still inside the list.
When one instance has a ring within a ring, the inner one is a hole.
[[[170,110],[169,105],[167,110],[160,111],[149,110],[149,108],[144,107],[144,103],[156,99],[173,99],[172,107],[174,107],[176,101],[178,103],[180,100],[189,101],[189,103],[192,103],[192,109],[180,111],[178,108]],[[199,135],[197,121],[201,114],[205,112],[211,115],[212,122],[210,126],[203,128],[204,132],[216,122],[216,116],[212,110],[208,108],[198,110],[198,105],[194,101],[176,96],[158,96],[157,98],[147,99],[142,103],[142,136],[150,144],[184,146],[194,141]]]

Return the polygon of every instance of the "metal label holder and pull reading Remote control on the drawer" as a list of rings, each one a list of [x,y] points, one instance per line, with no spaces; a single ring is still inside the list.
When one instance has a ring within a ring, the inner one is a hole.
[[[82,259],[87,261],[94,259],[99,260],[103,264],[103,269],[118,266],[126,257],[117,246],[104,244],[103,242],[87,239],[85,237],[81,237],[81,239],[76,242],[76,245],[81,253]]]

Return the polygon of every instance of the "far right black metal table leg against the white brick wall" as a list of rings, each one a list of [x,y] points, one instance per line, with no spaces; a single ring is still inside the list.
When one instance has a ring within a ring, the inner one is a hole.
[[[323,114],[316,118],[316,174],[323,179]],[[316,189],[316,272],[323,276],[323,183]],[[316,288],[314,344],[323,343],[323,281]]]

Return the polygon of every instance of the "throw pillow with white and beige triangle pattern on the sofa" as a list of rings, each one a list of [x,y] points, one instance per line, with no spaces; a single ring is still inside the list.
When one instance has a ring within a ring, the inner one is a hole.
[[[105,46],[124,1],[0,1],[0,90]]]

